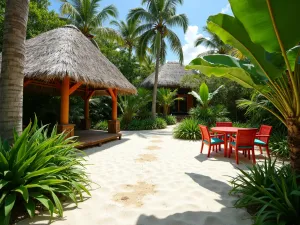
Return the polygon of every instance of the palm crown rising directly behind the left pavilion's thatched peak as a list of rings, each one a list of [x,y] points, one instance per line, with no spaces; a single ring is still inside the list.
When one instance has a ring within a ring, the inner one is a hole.
[[[119,35],[114,29],[102,26],[109,17],[116,18],[118,16],[118,10],[114,5],[109,5],[99,11],[102,0],[60,1],[63,3],[60,8],[61,14],[68,16],[71,22],[91,40],[95,34],[106,38],[119,39]]]

